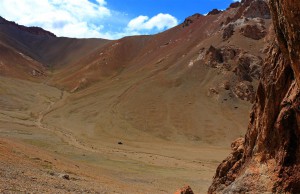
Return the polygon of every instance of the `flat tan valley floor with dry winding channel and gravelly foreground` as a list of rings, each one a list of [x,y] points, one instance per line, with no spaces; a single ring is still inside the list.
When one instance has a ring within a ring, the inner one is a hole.
[[[152,136],[90,140],[45,121],[68,93],[44,84],[0,81],[2,193],[173,193],[185,184],[205,193],[230,152],[223,148],[228,145]]]

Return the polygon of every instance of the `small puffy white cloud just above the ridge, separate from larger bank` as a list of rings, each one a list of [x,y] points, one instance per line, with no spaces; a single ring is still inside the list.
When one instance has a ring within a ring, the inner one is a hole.
[[[149,19],[148,16],[138,16],[132,19],[127,27],[131,31],[164,30],[178,24],[178,20],[170,14],[157,14]]]

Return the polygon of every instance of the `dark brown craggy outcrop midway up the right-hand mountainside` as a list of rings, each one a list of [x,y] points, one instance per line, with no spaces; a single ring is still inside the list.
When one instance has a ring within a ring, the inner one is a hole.
[[[230,82],[221,83],[221,87],[213,87],[214,90],[208,91],[209,96],[216,95],[223,89],[230,90],[231,94],[241,100],[254,102],[257,80],[261,76],[262,58],[231,46],[210,46],[204,60],[207,66],[224,74],[232,74]]]

